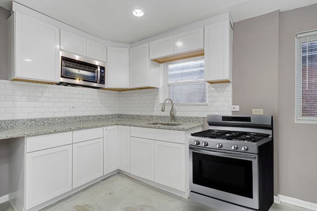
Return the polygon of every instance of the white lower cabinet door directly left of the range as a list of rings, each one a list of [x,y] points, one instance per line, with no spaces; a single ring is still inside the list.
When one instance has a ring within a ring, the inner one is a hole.
[[[155,141],[155,182],[185,190],[185,144]]]

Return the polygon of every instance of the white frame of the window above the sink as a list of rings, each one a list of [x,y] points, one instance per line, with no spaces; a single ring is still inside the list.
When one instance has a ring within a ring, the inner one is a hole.
[[[187,58],[187,59],[181,59],[181,60],[175,60],[171,62],[166,62],[163,64],[160,64],[160,90],[159,90],[159,103],[162,104],[164,99],[170,98],[169,93],[168,93],[168,84],[192,84],[192,83],[206,83],[206,102],[174,102],[175,105],[195,105],[195,106],[200,106],[200,105],[208,105],[208,83],[205,82],[205,79],[197,80],[197,81],[189,81],[189,82],[175,82],[175,83],[169,83],[168,82],[168,65],[169,64],[175,64],[175,63],[180,63],[180,62],[187,62],[187,61],[194,61],[194,60],[199,60],[199,59],[204,59],[204,56],[198,56],[198,57],[192,57],[192,58]],[[205,65],[205,61],[204,61]],[[205,67],[204,67],[205,70]],[[163,73],[161,72],[163,71]],[[205,72],[205,71],[204,71]],[[205,74],[205,73],[204,73]],[[164,79],[162,79],[162,77]],[[205,77],[204,77],[205,78]]]

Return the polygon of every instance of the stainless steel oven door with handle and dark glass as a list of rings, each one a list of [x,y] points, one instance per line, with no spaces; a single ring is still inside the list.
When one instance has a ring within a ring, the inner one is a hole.
[[[259,209],[258,155],[189,147],[191,191]]]

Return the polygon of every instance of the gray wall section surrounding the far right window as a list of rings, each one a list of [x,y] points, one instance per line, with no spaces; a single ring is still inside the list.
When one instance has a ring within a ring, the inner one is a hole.
[[[281,12],[278,62],[278,192],[317,203],[317,125],[295,124],[295,33],[317,29],[317,4]]]

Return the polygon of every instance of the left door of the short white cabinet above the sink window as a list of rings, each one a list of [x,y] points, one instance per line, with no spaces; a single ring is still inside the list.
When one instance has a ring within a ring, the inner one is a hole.
[[[173,36],[150,42],[150,59],[160,58],[173,54]]]

